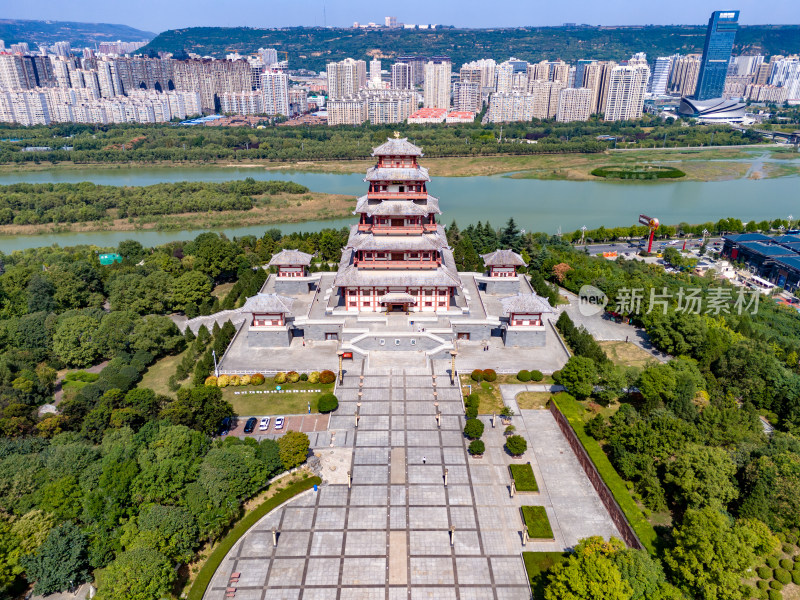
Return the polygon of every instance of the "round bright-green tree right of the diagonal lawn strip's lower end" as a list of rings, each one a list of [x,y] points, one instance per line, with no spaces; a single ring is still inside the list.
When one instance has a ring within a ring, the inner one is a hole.
[[[736,465],[725,450],[691,444],[667,465],[664,483],[682,509],[723,510],[739,495],[735,475]]]

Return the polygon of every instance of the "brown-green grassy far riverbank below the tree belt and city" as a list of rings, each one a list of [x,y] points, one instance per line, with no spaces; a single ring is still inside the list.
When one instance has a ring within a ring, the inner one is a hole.
[[[424,150],[424,149],[423,149]],[[510,174],[515,179],[542,179],[557,181],[592,181],[591,171],[600,166],[628,166],[639,163],[666,163],[686,172],[685,181],[726,181],[744,177],[753,163],[764,155],[775,159],[800,158],[790,148],[772,145],[741,146],[735,148],[642,149],[624,152],[609,150],[594,154],[533,154],[461,156],[452,158],[424,158],[425,166],[433,177],[474,177]],[[741,161],[741,162],[736,162]],[[242,162],[148,162],[148,163],[94,163],[69,162],[20,165],[0,165],[0,174],[36,171],[80,171],[82,169],[106,170],[143,168],[198,168],[215,167],[267,171],[301,171],[330,174],[363,174],[374,164],[372,160],[291,161],[246,160]],[[764,170],[761,177],[800,175],[800,165],[786,164],[781,168]]]

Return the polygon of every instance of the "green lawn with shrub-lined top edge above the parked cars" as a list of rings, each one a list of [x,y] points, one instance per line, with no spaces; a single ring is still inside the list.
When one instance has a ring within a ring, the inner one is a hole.
[[[285,383],[281,386],[285,390],[322,390],[321,392],[301,391],[298,393],[285,394],[234,394],[234,392],[250,392],[255,390],[274,390],[275,384],[269,380],[264,385],[248,385],[237,387],[222,388],[222,397],[233,405],[233,410],[240,416],[262,416],[262,415],[299,415],[308,412],[308,405],[311,404],[311,412],[317,410],[317,402],[320,396],[333,392],[333,384],[306,383]]]

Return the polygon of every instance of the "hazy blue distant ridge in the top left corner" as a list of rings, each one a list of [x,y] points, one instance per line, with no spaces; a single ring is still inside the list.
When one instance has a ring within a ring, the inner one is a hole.
[[[95,42],[138,42],[152,40],[155,36],[152,31],[113,23],[0,19],[0,40],[6,43],[6,47],[18,42],[28,42],[34,48],[39,42],[52,44],[67,41],[74,48],[82,48],[92,47]]]

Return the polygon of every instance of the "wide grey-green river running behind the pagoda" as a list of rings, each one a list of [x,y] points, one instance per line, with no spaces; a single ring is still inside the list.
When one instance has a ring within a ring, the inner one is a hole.
[[[275,171],[262,168],[120,167],[80,170],[52,169],[0,173],[0,184],[19,182],[57,183],[92,181],[105,185],[151,185],[175,181],[230,181],[252,177],[258,180],[295,181],[315,192],[359,196],[367,185],[360,174],[309,173]],[[800,217],[800,177],[773,179],[737,179],[731,181],[668,181],[652,183],[609,181],[542,181],[512,179],[503,175],[476,177],[434,177],[428,189],[440,200],[443,214],[440,221],[455,220],[460,227],[490,221],[494,226],[514,217],[526,231],[556,233],[588,228],[626,226],[637,222],[639,214],[658,217],[662,223],[676,224],[717,221],[723,217],[742,220]],[[355,217],[335,221],[307,221],[291,225],[258,225],[227,228],[226,235],[263,235],[264,230],[278,227],[281,231],[318,231],[325,227],[342,227],[355,222]],[[0,251],[59,244],[95,244],[116,246],[120,241],[136,239],[145,247],[173,240],[188,240],[202,230],[194,231],[95,231],[43,235],[0,236]]]

